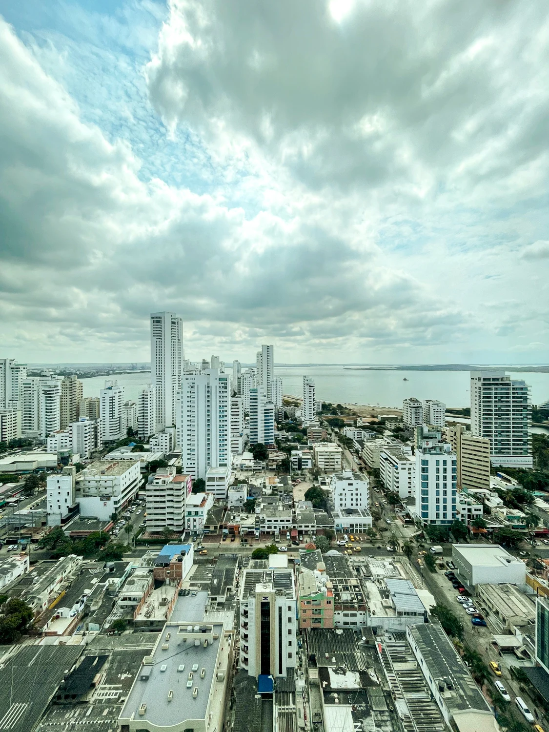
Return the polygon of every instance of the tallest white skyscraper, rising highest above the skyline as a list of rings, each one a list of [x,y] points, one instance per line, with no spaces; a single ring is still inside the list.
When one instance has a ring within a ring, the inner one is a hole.
[[[151,379],[156,391],[155,430],[176,422],[176,395],[181,387],[183,324],[175,313],[151,314]]]

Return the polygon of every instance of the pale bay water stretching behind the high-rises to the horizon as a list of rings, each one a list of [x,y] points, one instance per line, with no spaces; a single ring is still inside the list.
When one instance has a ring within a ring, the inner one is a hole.
[[[333,403],[372,404],[401,408],[403,399],[439,399],[449,407],[467,407],[469,397],[468,371],[373,371],[353,370],[343,366],[285,366],[275,368],[275,376],[283,377],[286,395],[302,396],[303,376],[312,376],[318,400]],[[549,373],[512,373],[531,386],[532,403],[549,399]],[[130,373],[112,376],[124,386],[127,399],[135,400],[146,384],[149,374]],[[408,381],[404,381],[407,378]],[[99,396],[105,377],[83,379],[85,397]]]

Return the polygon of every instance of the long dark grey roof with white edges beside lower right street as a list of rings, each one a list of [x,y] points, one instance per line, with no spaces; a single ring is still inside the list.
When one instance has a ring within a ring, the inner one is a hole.
[[[448,638],[440,625],[418,624],[408,625],[406,630],[425,660],[428,672],[433,681],[446,679],[452,688],[446,685],[441,697],[450,714],[468,709],[477,709],[481,712],[491,712],[490,704],[479,690],[476,681],[468,672],[466,665],[455,650],[452,641]]]

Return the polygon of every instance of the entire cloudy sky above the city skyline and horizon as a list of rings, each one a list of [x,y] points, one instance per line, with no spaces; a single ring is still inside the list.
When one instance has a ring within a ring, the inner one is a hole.
[[[549,6],[0,0],[0,356],[549,360]]]

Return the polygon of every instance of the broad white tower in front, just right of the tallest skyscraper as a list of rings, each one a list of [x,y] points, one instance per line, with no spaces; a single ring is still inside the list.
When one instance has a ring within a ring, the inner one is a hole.
[[[206,479],[208,468],[231,465],[231,380],[217,369],[183,377],[177,395],[176,443],[183,473]]]

